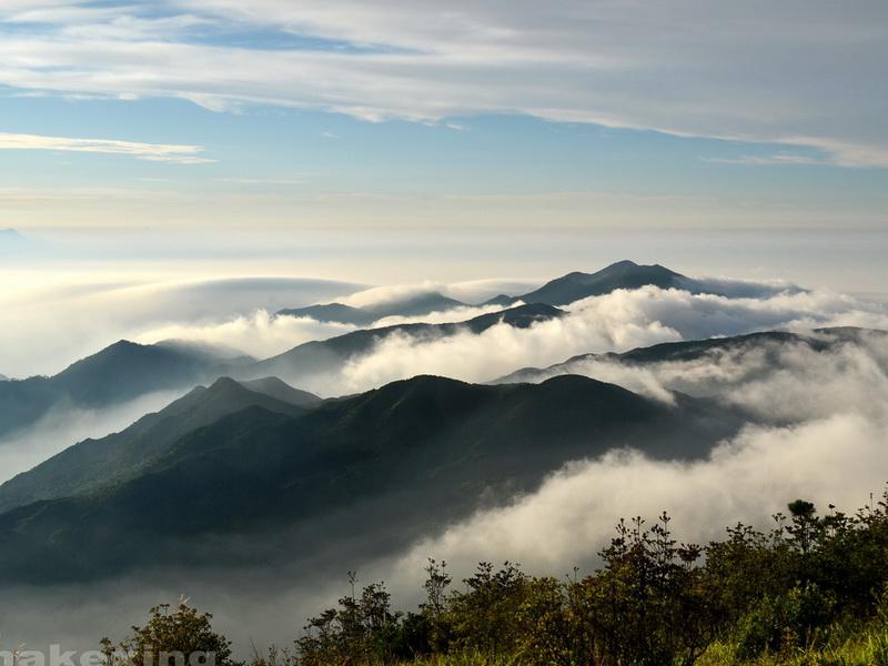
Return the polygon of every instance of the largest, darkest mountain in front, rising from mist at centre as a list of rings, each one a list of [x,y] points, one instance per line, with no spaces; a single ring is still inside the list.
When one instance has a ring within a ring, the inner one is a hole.
[[[240,391],[232,384],[221,389]],[[161,442],[148,464],[125,463],[135,476],[104,485],[103,466],[79,482],[98,492],[0,515],[0,579],[48,584],[164,565],[337,571],[350,552],[403,548],[482,503],[537,487],[567,461],[623,445],[696,458],[740,423],[705,401],[678,396],[667,407],[578,376],[501,386],[418,376],[303,415],[251,406],[174,443],[149,434],[178,433],[182,417],[154,415],[132,431],[125,451],[135,457]],[[90,446],[70,455],[89,460]]]

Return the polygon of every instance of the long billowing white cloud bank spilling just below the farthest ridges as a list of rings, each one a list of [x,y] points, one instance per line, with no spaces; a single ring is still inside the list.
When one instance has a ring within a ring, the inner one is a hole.
[[[829,292],[727,299],[647,286],[577,301],[568,311],[567,316],[528,329],[500,324],[481,334],[465,332],[431,340],[390,335],[372,352],[352,357],[339,373],[290,379],[307,390],[333,395],[423,373],[485,382],[517,367],[548,366],[589,352],[626,351],[660,342],[781,327],[888,327],[885,305]],[[656,391],[656,382],[648,382],[648,392]]]

